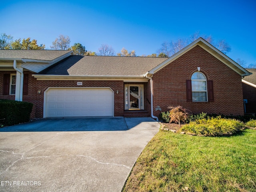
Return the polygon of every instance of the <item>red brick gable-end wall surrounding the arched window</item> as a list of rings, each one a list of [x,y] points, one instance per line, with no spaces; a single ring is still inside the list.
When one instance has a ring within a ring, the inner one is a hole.
[[[214,102],[187,102],[186,80],[197,71],[197,67],[200,67],[207,80],[213,81]],[[241,76],[200,46],[156,72],[153,84],[155,116],[160,114],[160,111],[155,111],[157,106],[167,111],[168,106],[178,105],[192,113],[244,114]]]

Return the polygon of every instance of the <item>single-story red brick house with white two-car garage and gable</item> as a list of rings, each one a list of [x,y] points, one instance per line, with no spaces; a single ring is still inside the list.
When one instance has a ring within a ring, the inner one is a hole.
[[[170,58],[0,50],[0,99],[32,102],[36,118],[156,118],[178,105],[192,113],[243,115],[241,78],[248,75],[202,38]]]

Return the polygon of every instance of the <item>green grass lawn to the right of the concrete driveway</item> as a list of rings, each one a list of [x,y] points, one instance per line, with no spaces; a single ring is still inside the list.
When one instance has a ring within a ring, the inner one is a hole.
[[[256,130],[200,137],[160,130],[123,192],[256,192]]]

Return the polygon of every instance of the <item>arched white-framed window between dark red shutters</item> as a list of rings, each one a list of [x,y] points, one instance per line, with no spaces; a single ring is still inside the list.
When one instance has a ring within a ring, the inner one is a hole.
[[[191,76],[192,102],[207,102],[206,77],[201,72],[195,72]]]

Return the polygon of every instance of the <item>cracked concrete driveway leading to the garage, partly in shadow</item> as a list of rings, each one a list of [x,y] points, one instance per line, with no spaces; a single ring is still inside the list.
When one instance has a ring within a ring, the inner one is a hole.
[[[0,191],[120,192],[152,118],[51,118],[0,128]]]

